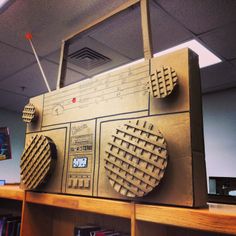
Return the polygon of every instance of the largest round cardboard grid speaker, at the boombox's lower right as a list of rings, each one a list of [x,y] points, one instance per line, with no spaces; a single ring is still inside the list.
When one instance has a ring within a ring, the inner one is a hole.
[[[127,197],[142,197],[162,179],[167,144],[146,121],[128,121],[116,129],[105,155],[105,169],[113,188]]]

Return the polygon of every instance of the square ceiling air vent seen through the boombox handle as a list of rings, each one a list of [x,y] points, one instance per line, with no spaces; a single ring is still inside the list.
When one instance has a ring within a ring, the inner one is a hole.
[[[68,61],[89,71],[110,62],[111,59],[85,47],[71,53],[68,56]]]

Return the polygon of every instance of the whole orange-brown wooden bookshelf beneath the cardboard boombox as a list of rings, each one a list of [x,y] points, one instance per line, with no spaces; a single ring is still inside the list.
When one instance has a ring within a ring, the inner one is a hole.
[[[163,236],[236,235],[234,205],[209,203],[205,209],[190,209],[63,194],[26,192],[24,195],[18,186],[1,186],[0,198],[4,203],[8,200],[8,205],[11,200],[23,203],[21,236],[72,233],[76,222],[118,225],[132,236],[142,236],[145,232],[149,236],[157,233]]]

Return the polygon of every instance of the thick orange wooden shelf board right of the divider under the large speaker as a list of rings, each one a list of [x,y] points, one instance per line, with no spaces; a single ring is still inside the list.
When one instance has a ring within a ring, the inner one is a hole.
[[[136,219],[203,231],[236,235],[236,206],[209,203],[207,208],[190,209],[137,204]]]

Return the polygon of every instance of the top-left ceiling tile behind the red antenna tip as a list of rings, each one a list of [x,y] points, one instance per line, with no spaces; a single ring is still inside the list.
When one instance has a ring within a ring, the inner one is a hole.
[[[25,33],[32,32],[36,51],[45,56],[61,40],[103,16],[125,0],[17,0],[0,15],[0,41],[31,52]]]

